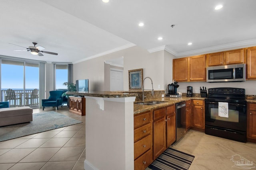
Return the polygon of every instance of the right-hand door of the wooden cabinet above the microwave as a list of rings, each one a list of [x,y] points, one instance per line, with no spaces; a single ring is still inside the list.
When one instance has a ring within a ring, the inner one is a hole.
[[[244,49],[226,51],[224,53],[226,64],[244,63]]]

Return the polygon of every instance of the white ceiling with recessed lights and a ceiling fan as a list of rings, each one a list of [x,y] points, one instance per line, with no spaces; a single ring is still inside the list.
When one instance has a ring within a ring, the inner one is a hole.
[[[218,4],[223,8],[214,10]],[[256,0],[1,0],[0,55],[78,63],[134,45],[177,57],[252,46],[255,6]],[[13,51],[32,42],[58,55]]]

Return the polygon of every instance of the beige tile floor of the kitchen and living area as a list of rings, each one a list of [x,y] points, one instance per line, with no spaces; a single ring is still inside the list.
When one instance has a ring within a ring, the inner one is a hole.
[[[52,110],[55,109],[44,109]],[[65,106],[56,111],[85,122],[85,116],[69,113]],[[38,112],[42,109],[33,110],[33,113]],[[239,170],[232,167],[234,162],[230,160],[235,154],[253,161],[253,165],[246,168],[256,170],[255,143],[241,143],[190,130],[171,147],[195,156],[190,170]],[[0,142],[0,170],[84,170],[84,159],[85,123]]]

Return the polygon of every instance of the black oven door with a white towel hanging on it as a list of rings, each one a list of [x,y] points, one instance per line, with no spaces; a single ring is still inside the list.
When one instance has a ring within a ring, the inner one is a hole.
[[[219,102],[228,105],[228,115],[219,113]],[[205,125],[246,132],[246,101],[205,99]]]

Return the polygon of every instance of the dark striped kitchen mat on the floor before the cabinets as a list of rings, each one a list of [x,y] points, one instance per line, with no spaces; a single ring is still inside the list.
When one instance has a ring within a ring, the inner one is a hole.
[[[194,158],[193,155],[168,148],[148,168],[152,170],[188,170]]]

